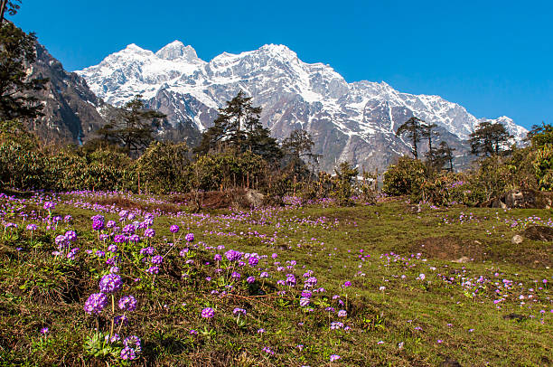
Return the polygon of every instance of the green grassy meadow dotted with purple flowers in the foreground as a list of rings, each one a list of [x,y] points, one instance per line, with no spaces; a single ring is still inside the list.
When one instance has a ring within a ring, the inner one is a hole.
[[[71,198],[75,197],[62,199]],[[169,201],[167,197],[161,199]],[[23,212],[40,209],[29,200]],[[6,201],[5,205],[14,204]],[[136,205],[140,206],[138,201]],[[147,205],[148,210],[154,209],[151,203]],[[520,245],[511,243],[514,234],[531,225],[524,219],[537,215],[547,221],[551,212],[421,208],[417,212],[408,202],[391,201],[351,208],[315,205],[242,213],[211,211],[209,217],[157,217],[153,226],[156,253],[169,252],[155,278],[145,274],[140,262],[131,261],[141,246],[122,247],[125,256],[120,274],[125,286],[121,295],[136,296],[139,306],[128,314],[129,324],[122,327],[121,334],[141,338],[142,353],[136,364],[146,365],[553,363],[552,245],[528,239]],[[179,209],[187,211],[186,207]],[[0,242],[0,362],[120,364],[114,357],[91,356],[84,347],[97,325],[108,333],[111,320],[110,306],[98,317],[83,311],[88,296],[98,292],[100,276],[109,268],[85,251],[103,246],[91,231],[89,217],[95,212],[60,203],[54,213],[70,213],[73,224],[63,224],[55,233],[39,230],[33,243],[20,225],[18,230],[8,229]],[[462,213],[472,213],[472,219],[459,221]],[[241,220],[236,219],[238,214]],[[115,214],[106,216],[107,220],[117,218]],[[511,228],[513,220],[520,223]],[[20,219],[15,216],[10,221]],[[174,223],[184,233],[195,235],[197,248],[192,246],[186,258],[179,256],[185,247],[183,240],[173,250],[166,243],[173,240],[169,226]],[[78,233],[80,254],[73,261],[54,259],[53,239],[69,227]],[[225,249],[210,249],[220,245]],[[230,272],[237,270],[236,266],[221,264],[223,271],[214,271],[213,254],[228,249],[257,252],[268,258],[261,259],[256,268],[239,268],[242,277],[233,281]],[[270,257],[273,253],[277,253],[284,271],[276,270]],[[361,260],[360,255],[370,257]],[[463,256],[473,260],[452,262]],[[186,259],[193,263],[186,264]],[[295,260],[296,265],[286,268],[286,260]],[[211,264],[205,265],[206,261]],[[260,279],[259,267],[268,268],[272,278]],[[302,275],[307,269],[314,271],[316,287],[325,289],[314,293],[313,311],[299,305]],[[295,274],[296,287],[277,284],[288,273]],[[417,279],[421,273],[425,280]],[[183,278],[183,274],[188,277]],[[257,278],[253,285],[244,281],[248,275]],[[442,276],[454,281],[445,283]],[[478,284],[480,277],[484,280],[475,295],[476,287],[461,285],[466,280]],[[135,282],[136,278],[142,280]],[[544,278],[549,286],[539,290]],[[509,296],[495,305],[493,300],[500,296],[495,295],[493,282],[501,283],[502,279],[512,280],[513,287],[507,292]],[[346,280],[351,281],[351,287],[342,287]],[[225,287],[228,285],[233,288]],[[228,294],[212,295],[213,289]],[[277,294],[279,290],[286,290],[286,294]],[[340,295],[344,306],[338,305],[333,295]],[[525,299],[520,300],[520,295]],[[200,315],[206,306],[215,309],[211,320]],[[324,311],[326,306],[336,311],[346,309],[348,315],[329,315]],[[235,307],[245,308],[248,314],[237,320],[232,315]],[[331,330],[333,321],[341,321],[350,330]],[[48,327],[49,333],[40,334],[42,327]],[[258,333],[260,328],[265,333]],[[198,334],[190,334],[191,330]],[[264,352],[264,347],[274,354]],[[331,354],[341,358],[330,362]]]

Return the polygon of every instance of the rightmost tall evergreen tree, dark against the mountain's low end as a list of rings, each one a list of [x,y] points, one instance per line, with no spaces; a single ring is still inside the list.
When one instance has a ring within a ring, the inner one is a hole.
[[[470,135],[471,153],[473,155],[500,155],[507,150],[506,146],[513,136],[497,122],[483,121]]]

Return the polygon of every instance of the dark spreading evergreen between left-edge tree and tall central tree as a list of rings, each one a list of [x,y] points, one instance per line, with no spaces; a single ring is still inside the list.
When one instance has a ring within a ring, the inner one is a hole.
[[[117,117],[98,129],[96,134],[111,144],[123,147],[128,155],[139,155],[154,140],[155,127],[163,113],[145,109],[141,95],[117,111]]]

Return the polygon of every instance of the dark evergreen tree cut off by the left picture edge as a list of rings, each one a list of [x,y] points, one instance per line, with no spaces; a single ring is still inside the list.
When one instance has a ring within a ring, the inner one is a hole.
[[[33,33],[11,22],[0,24],[0,119],[36,118],[42,104],[29,92],[44,89],[47,79],[29,79],[27,69],[36,59]]]

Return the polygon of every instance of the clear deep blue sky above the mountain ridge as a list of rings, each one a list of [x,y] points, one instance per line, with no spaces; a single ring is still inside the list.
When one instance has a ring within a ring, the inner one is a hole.
[[[283,43],[348,81],[437,94],[477,118],[553,123],[550,1],[38,1],[8,16],[67,70],[128,43],[180,40],[205,61]]]

